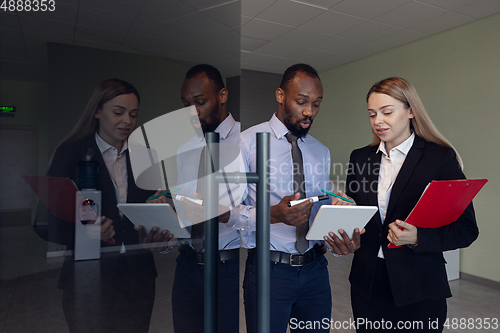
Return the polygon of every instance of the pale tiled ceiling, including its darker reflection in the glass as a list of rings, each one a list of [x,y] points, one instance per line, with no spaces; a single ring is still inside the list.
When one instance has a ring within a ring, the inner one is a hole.
[[[56,0],[0,13],[1,77],[46,75],[46,43],[282,73],[327,70],[500,12],[500,0]]]

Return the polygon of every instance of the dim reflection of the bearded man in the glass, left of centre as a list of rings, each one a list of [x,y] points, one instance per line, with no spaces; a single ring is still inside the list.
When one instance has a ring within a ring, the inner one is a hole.
[[[226,172],[239,171],[240,123],[226,110],[228,92],[219,71],[201,64],[192,67],[182,84],[184,106],[196,107],[192,123],[201,127],[203,134],[220,135],[220,168]],[[177,154],[177,187],[175,194],[203,199],[204,176],[200,170],[204,160],[204,137],[195,136],[183,144]],[[213,158],[219,158],[214,156]],[[238,220],[238,210],[231,208],[241,202],[241,185],[220,184],[219,203],[226,209],[219,216],[219,329],[234,333],[239,329],[239,248],[240,234],[232,226]],[[244,188],[244,186],[243,186]],[[164,197],[156,200],[161,202]],[[222,206],[221,206],[222,207]],[[179,248],[172,290],[172,312],[176,333],[202,333],[204,323],[204,208],[189,200],[176,201],[180,216],[192,223],[188,229],[191,238]],[[200,223],[201,222],[201,223]],[[175,235],[174,235],[175,236]]]

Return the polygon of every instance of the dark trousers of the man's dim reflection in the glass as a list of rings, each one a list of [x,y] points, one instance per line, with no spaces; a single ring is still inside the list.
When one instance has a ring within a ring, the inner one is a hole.
[[[239,259],[219,262],[219,333],[239,330]],[[172,290],[175,333],[203,333],[204,265],[182,253],[177,257]]]

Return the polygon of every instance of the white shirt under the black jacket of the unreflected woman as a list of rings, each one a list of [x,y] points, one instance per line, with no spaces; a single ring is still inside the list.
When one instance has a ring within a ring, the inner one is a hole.
[[[387,207],[389,207],[389,199],[391,197],[392,186],[398,177],[399,170],[403,166],[406,159],[406,155],[410,151],[413,141],[415,140],[415,134],[412,133],[408,139],[403,141],[397,147],[392,148],[389,153],[385,149],[385,142],[380,141],[377,153],[382,152],[382,163],[380,165],[380,173],[378,175],[378,210],[380,213],[380,219],[382,224],[385,223],[385,216],[387,214]],[[390,221],[392,223],[394,221]],[[384,253],[382,252],[382,246],[378,251],[378,257],[384,258]]]

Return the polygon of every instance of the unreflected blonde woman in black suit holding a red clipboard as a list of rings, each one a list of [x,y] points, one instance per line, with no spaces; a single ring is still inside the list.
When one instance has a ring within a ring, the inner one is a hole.
[[[471,203],[457,221],[435,229],[404,220],[432,180],[465,178],[462,160],[407,80],[376,83],[367,102],[374,141],[351,153],[345,192],[379,212],[359,243],[327,242],[338,253],[344,245],[357,248],[349,280],[358,332],[441,332],[451,297],[443,251],[477,238],[474,209]],[[403,247],[389,249],[389,243]]]

